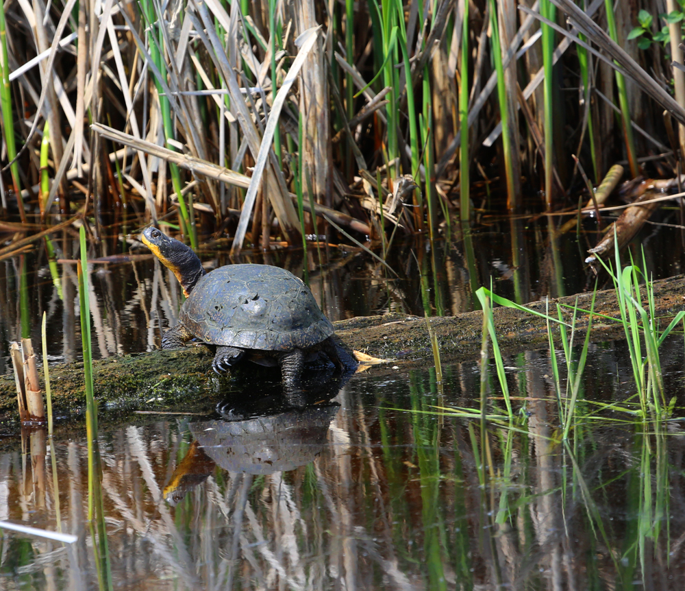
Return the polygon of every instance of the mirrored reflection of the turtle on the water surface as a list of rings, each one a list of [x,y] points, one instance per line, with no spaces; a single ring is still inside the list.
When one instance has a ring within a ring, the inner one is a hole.
[[[247,420],[190,423],[194,440],[164,487],[166,502],[177,505],[216,465],[229,472],[272,474],[314,461],[339,408],[337,402],[325,402]]]

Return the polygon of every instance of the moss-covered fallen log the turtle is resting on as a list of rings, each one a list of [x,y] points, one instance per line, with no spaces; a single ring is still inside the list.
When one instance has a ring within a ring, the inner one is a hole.
[[[654,284],[655,309],[667,326],[670,317],[685,309],[685,276],[676,276]],[[577,306],[590,309],[591,293],[577,296]],[[576,296],[550,300],[549,312],[556,314],[556,302],[573,306]],[[545,302],[527,306],[545,313]],[[599,291],[595,312],[619,316],[614,291]],[[570,321],[571,312],[565,313]],[[504,354],[548,347],[544,319],[507,308],[493,310],[500,348]],[[476,361],[479,357],[482,315],[479,311],[452,317],[429,319],[438,340],[443,364],[450,361]],[[373,357],[390,359],[389,365],[373,367],[373,372],[395,372],[402,368],[433,365],[433,351],[426,319],[407,315],[357,317],[334,323],[336,334],[354,350]],[[576,342],[582,343],[588,315],[576,316]],[[593,320],[594,342],[621,339],[617,324],[596,317]],[[95,397],[99,410],[122,418],[133,410],[201,411],[208,402],[225,393],[227,380],[212,372],[213,353],[207,346],[189,346],[179,350],[155,351],[110,357],[95,362]],[[85,408],[83,365],[69,363],[51,367],[53,411],[55,416],[78,416]],[[245,394],[249,396],[246,389]],[[16,431],[16,391],[11,374],[0,376],[0,434]]]

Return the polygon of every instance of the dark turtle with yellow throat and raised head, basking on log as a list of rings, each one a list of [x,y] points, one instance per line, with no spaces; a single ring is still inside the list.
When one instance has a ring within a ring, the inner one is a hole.
[[[149,227],[142,242],[175,274],[186,295],[179,322],[162,336],[162,348],[197,337],[216,345],[217,374],[249,359],[279,365],[287,389],[298,389],[303,368],[321,353],[341,372],[356,359],[334,335],[314,295],[295,275],[272,265],[225,265],[207,273],[184,243]]]

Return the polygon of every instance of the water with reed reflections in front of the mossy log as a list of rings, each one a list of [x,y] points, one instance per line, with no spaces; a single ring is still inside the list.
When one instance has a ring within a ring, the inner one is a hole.
[[[386,369],[304,408],[270,396],[248,415],[236,392],[219,405],[231,420],[105,431],[114,587],[680,589],[683,422],[593,418],[590,400],[632,391],[622,347],[594,348],[568,446],[544,352],[508,360],[521,409],[513,429],[436,411],[477,405],[478,369],[460,364],[444,368],[442,394],[432,370]],[[664,354],[673,367],[682,371],[682,343]],[[0,454],[0,518],[55,531],[59,499],[62,531],[79,542],[8,533],[0,588],[92,588],[85,441],[45,455],[28,443]]]

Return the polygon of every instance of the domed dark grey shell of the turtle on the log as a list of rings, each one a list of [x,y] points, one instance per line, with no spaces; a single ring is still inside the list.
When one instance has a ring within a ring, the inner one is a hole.
[[[333,333],[301,279],[270,265],[226,265],[200,278],[179,322],[206,343],[290,351]]]

